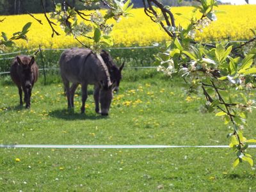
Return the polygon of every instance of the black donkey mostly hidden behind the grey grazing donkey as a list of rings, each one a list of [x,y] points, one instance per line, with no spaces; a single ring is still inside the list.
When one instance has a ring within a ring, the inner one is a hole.
[[[113,59],[111,58],[110,54],[105,50],[102,50],[100,52],[100,56],[108,67],[110,79],[113,83],[113,91],[118,92],[119,84],[122,79],[122,69],[124,68],[124,63],[118,68]]]

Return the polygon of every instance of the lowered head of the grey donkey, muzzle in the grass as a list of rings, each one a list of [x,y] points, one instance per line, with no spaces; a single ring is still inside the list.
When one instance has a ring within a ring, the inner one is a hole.
[[[113,84],[100,82],[99,102],[101,115],[108,115],[111,100],[113,99],[112,88]]]

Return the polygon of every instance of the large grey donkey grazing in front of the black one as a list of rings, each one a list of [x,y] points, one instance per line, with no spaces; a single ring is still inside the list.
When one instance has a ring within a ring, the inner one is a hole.
[[[68,108],[74,108],[74,93],[77,85],[81,84],[81,113],[84,113],[84,105],[88,97],[87,86],[88,84],[94,84],[95,111],[101,115],[108,115],[111,100],[113,99],[113,84],[109,77],[108,67],[102,57],[93,53],[90,49],[72,48],[61,54],[59,63],[61,78],[66,90]],[[74,85],[71,89],[69,82]]]

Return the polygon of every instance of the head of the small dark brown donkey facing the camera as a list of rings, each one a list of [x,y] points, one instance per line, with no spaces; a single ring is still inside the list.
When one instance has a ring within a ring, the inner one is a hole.
[[[20,80],[25,87],[32,88],[34,77],[32,76],[31,66],[35,62],[35,58],[29,58],[28,56],[17,56],[17,61],[19,65]]]

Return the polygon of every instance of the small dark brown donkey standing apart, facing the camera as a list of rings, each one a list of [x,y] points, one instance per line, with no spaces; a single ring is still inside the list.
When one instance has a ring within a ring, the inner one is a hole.
[[[36,82],[39,72],[34,57],[16,56],[11,66],[11,77],[19,88],[20,105],[22,105],[22,90],[26,108],[30,108],[31,91]]]

